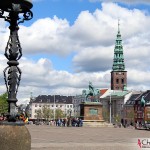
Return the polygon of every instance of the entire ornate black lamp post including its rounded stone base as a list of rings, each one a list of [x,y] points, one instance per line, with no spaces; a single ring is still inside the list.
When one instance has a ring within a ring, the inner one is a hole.
[[[8,92],[7,120],[0,123],[0,147],[5,150],[30,150],[31,136],[24,123],[17,121],[17,91],[21,80],[18,60],[22,56],[18,30],[19,24],[33,17],[31,0],[0,0],[0,18],[9,22],[10,36],[5,48],[8,67],[4,69],[4,79]]]

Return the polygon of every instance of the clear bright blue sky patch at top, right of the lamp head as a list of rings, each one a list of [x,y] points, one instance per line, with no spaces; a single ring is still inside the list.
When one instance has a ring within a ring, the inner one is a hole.
[[[84,10],[90,12],[100,8],[100,3],[90,3],[87,0],[41,0],[33,2],[34,19],[53,17],[66,18],[70,24],[73,24],[79,13]]]

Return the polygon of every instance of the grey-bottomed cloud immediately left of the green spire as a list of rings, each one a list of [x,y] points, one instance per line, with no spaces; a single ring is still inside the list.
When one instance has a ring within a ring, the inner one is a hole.
[[[97,46],[82,49],[82,51],[73,58],[75,71],[102,72],[111,69],[113,48],[113,46]]]

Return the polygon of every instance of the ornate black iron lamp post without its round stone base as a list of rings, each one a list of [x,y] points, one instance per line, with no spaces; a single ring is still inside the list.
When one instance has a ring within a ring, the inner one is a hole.
[[[0,18],[9,22],[10,36],[5,48],[8,66],[4,69],[4,80],[8,93],[8,122],[17,121],[16,96],[21,80],[18,60],[22,56],[22,48],[18,37],[19,24],[33,17],[31,0],[0,0]],[[7,13],[5,13],[7,12]]]

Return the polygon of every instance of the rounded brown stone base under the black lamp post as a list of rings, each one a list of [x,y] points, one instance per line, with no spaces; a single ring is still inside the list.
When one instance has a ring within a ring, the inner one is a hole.
[[[31,150],[31,135],[24,123],[0,123],[0,149]]]

